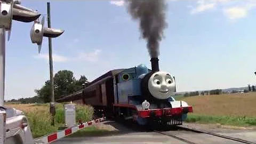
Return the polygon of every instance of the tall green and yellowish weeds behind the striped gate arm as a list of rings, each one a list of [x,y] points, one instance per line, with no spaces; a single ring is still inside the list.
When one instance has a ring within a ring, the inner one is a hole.
[[[28,111],[23,111],[28,118],[31,132],[34,138],[41,137],[45,134],[58,131],[60,126],[64,126],[65,115],[63,103],[57,103],[56,113],[54,116],[54,126],[51,125],[51,114],[49,113],[49,103],[30,105]],[[79,119],[83,122],[92,120],[93,108],[86,105],[76,106],[76,122]]]

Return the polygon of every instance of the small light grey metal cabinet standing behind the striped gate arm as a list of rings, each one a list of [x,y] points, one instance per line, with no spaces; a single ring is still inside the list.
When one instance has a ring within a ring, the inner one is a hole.
[[[65,109],[65,126],[71,127],[76,125],[76,105],[64,105]]]

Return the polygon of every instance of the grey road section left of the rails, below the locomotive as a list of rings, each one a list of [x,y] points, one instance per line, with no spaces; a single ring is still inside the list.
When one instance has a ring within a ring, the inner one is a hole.
[[[185,142],[156,132],[141,132],[115,122],[104,122],[114,127],[113,133],[101,137],[63,138],[53,144],[82,143],[177,143]]]

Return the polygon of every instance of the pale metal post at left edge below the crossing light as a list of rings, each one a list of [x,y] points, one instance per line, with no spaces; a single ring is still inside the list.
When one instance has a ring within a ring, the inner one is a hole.
[[[0,28],[0,106],[4,106],[5,29]]]

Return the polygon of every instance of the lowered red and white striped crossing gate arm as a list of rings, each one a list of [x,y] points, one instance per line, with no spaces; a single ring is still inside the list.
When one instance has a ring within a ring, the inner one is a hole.
[[[43,136],[41,138],[36,139],[35,143],[36,144],[51,143],[51,142],[56,141],[58,139],[67,137],[68,135],[73,134],[73,133],[77,132],[78,130],[82,130],[85,127],[88,127],[90,125],[102,122],[105,119],[106,119],[106,117],[94,119],[93,121],[89,121],[89,122],[86,122],[86,123],[83,123],[83,124],[78,124],[76,126],[69,127],[69,128],[67,128],[65,130],[62,130],[62,131],[54,132],[54,133],[49,134],[47,136]]]

